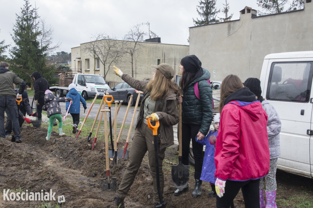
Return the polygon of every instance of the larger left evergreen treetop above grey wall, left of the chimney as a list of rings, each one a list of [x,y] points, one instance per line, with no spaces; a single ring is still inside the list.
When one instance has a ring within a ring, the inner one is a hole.
[[[199,6],[197,6],[197,12],[201,19],[197,20],[193,19],[194,25],[199,26],[199,25],[206,25],[206,24],[212,24],[219,22],[217,19],[217,14],[220,12],[220,10],[217,11],[216,7],[216,0],[204,0],[199,2]]]

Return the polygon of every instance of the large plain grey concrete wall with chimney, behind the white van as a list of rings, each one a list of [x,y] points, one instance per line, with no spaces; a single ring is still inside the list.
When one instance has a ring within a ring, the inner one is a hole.
[[[211,81],[229,74],[243,82],[259,78],[264,56],[313,50],[313,2],[305,0],[302,10],[274,15],[252,17],[255,10],[244,11],[239,20],[189,28],[189,54],[198,56]]]

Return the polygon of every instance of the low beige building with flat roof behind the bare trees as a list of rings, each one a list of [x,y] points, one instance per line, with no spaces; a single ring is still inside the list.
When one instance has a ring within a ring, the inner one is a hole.
[[[77,68],[77,59],[76,57],[81,57],[82,60],[82,73],[86,74],[100,74],[104,76],[104,65],[100,62],[100,70],[94,70],[95,61],[94,57],[90,56],[88,52],[84,50],[86,44],[80,44],[80,47],[72,48],[72,67],[76,64]],[[138,52],[138,55],[133,60],[134,67],[134,78],[143,80],[145,78],[151,78],[153,68],[150,65],[157,65],[157,60],[160,59],[160,64],[167,63],[173,67],[175,74],[178,73],[178,67],[180,65],[180,60],[189,55],[189,46],[185,45],[171,45],[171,44],[162,44],[162,43],[150,43],[150,42],[141,42],[142,47]],[[75,61],[74,61],[75,59]],[[86,70],[85,59],[90,61],[90,70]],[[75,64],[73,64],[75,63]],[[110,68],[106,64],[105,70],[109,69],[108,74],[105,77],[106,81],[121,82],[122,79],[115,75],[113,71],[113,63]],[[131,57],[129,54],[126,54],[121,60],[120,64],[116,64],[123,73],[131,75]]]

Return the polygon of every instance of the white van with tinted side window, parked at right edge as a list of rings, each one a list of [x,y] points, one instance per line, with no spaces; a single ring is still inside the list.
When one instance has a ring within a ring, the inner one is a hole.
[[[261,71],[262,96],[282,123],[277,168],[313,177],[313,51],[265,56]]]

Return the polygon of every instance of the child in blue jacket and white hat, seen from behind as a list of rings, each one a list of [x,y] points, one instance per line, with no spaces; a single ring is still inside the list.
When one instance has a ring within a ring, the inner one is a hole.
[[[73,133],[78,132],[78,124],[80,119],[80,102],[83,104],[84,109],[87,109],[86,101],[81,96],[80,93],[75,89],[75,84],[71,83],[69,85],[69,93],[66,94],[66,97],[72,98],[72,104],[69,107],[69,102],[66,102],[66,111],[69,108],[69,113],[73,118]]]

